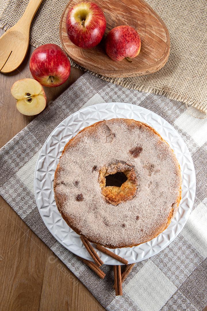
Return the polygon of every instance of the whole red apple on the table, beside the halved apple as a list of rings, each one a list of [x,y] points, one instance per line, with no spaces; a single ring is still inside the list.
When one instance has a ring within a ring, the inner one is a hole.
[[[70,61],[57,44],[44,44],[34,50],[29,69],[43,86],[59,86],[70,76]]]

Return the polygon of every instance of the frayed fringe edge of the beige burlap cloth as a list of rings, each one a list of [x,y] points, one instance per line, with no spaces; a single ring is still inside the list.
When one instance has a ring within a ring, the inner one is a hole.
[[[8,30],[9,28],[11,28],[11,25],[9,25],[8,23],[0,21],[0,28],[3,30]],[[31,38],[30,38],[29,43],[36,48],[38,46],[42,45],[37,40],[31,39]],[[91,72],[86,68],[83,68],[82,66],[75,63],[72,59],[70,59],[70,64],[71,64],[71,66],[73,66],[75,68],[89,72],[92,75],[95,75],[96,77],[99,77],[105,81],[109,81],[111,83],[126,87],[128,89],[137,90],[137,91],[141,91],[141,92],[145,92],[145,93],[157,94],[157,95],[165,95],[169,99],[181,101],[181,102],[185,103],[187,106],[192,106],[192,107],[198,109],[200,112],[204,113],[205,114],[204,118],[206,118],[206,116],[207,116],[207,103],[205,104],[205,103],[203,103],[199,100],[193,99],[189,96],[186,96],[183,94],[182,95],[176,94],[176,93],[173,93],[171,91],[166,91],[164,89],[159,90],[159,89],[152,87],[152,86],[137,84],[135,81],[134,82],[133,81],[123,81],[125,78],[104,77],[104,76],[101,76],[95,72]],[[201,117],[201,118],[203,118],[203,117]]]

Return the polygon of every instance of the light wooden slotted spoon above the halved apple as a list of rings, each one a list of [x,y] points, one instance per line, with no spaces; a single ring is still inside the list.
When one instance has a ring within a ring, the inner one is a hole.
[[[20,20],[0,38],[0,72],[14,71],[23,62],[29,47],[30,25],[43,0],[30,0]]]

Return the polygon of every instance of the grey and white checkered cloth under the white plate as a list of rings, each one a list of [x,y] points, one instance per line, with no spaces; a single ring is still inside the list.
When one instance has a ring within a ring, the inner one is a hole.
[[[64,248],[45,227],[34,198],[34,169],[48,135],[80,108],[129,102],[162,116],[186,142],[196,169],[196,199],[187,224],[163,251],[137,263],[115,297],[111,266],[104,280]],[[160,95],[125,89],[84,74],[0,150],[0,194],[107,310],[202,310],[207,304],[207,120]]]

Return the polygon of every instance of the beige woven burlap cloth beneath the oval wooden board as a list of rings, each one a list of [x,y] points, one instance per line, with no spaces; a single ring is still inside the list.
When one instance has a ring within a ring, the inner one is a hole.
[[[29,0],[0,0],[0,27],[8,29],[21,17]],[[43,0],[31,26],[30,43],[56,43],[59,23],[69,0]],[[165,22],[171,40],[168,63],[159,72],[107,81],[139,91],[163,94],[207,112],[207,2],[147,0]],[[153,48],[153,47],[152,47]],[[79,67],[74,62],[71,64]]]

